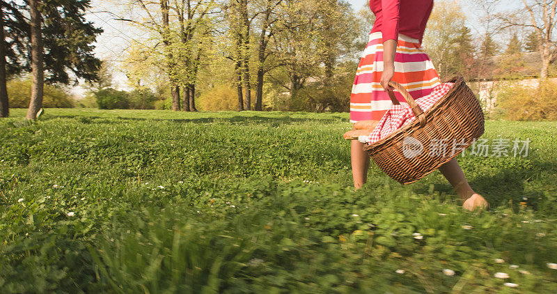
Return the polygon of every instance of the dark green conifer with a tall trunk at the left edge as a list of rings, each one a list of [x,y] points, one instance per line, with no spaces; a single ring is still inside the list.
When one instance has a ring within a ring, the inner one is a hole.
[[[91,0],[1,1],[5,36],[1,42],[6,61],[0,84],[10,75],[31,72],[35,82],[27,119],[42,107],[44,82],[77,83],[97,79],[100,61],[91,45],[102,32],[84,17]],[[7,59],[7,60],[6,60]],[[1,61],[0,61],[1,62]],[[70,78],[70,72],[75,78]],[[1,86],[0,86],[1,88]]]

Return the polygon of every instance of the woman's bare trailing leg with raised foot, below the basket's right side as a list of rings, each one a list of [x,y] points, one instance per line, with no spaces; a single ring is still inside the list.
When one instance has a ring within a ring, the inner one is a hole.
[[[468,180],[466,180],[466,177],[464,176],[464,172],[462,172],[462,169],[460,168],[460,165],[458,165],[455,158],[439,167],[439,171],[441,171],[443,176],[445,176],[448,183],[453,185],[460,200],[464,202],[462,205],[464,208],[474,210],[482,206],[489,206],[487,201],[485,201],[480,194],[474,192],[472,187],[470,187]]]

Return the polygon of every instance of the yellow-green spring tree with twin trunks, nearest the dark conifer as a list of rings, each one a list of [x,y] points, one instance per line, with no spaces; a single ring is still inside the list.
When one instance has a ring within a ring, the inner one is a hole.
[[[135,24],[147,32],[147,41],[152,42],[152,46],[142,46],[142,54],[148,59],[161,61],[157,65],[164,70],[170,81],[172,109],[180,110],[182,88],[182,109],[195,111],[196,76],[203,54],[203,36],[207,35],[205,21],[207,15],[212,13],[214,0],[129,0],[128,3],[132,8],[140,8],[144,15],[134,13],[132,17],[136,17],[135,19],[119,17],[118,20]],[[162,50],[159,50],[160,43],[163,45]],[[136,62],[141,63],[143,60]],[[141,77],[133,79],[139,80]]]

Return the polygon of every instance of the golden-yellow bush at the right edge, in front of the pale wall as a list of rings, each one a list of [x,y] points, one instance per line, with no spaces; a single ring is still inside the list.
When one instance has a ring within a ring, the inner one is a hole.
[[[542,82],[538,88],[509,85],[498,95],[498,114],[510,121],[557,120],[556,96],[556,82]]]

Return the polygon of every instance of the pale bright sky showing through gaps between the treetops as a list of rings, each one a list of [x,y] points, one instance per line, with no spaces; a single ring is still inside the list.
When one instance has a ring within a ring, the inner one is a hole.
[[[354,11],[366,6],[367,0],[345,0],[352,5]],[[438,1],[437,1],[438,2]],[[481,36],[485,29],[480,25],[479,17],[482,12],[473,5],[473,1],[461,0],[461,6],[468,19],[467,26],[471,28],[473,35]],[[518,8],[521,1],[500,0],[496,11]],[[87,20],[95,22],[96,26],[104,29],[104,33],[97,37],[95,55],[105,61],[118,62],[123,59],[125,49],[131,42],[141,40],[141,32],[130,29],[130,25],[123,21],[115,20],[115,16],[109,12],[123,9],[123,4],[118,0],[92,0],[91,8],[86,14]],[[113,72],[116,88],[128,89],[126,77],[123,72]],[[74,87],[72,92],[77,96],[84,95],[84,89],[80,86]]]

